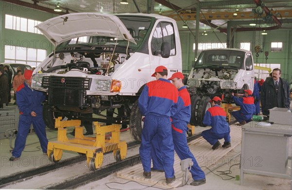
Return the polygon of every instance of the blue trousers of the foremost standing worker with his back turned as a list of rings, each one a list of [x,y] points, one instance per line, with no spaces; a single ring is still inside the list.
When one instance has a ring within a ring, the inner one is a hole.
[[[165,178],[172,178],[174,175],[174,146],[169,117],[159,117],[152,114],[146,115],[142,129],[142,142],[139,149],[143,169],[145,172],[151,171],[151,141],[155,135],[157,135],[158,145],[163,158]]]

